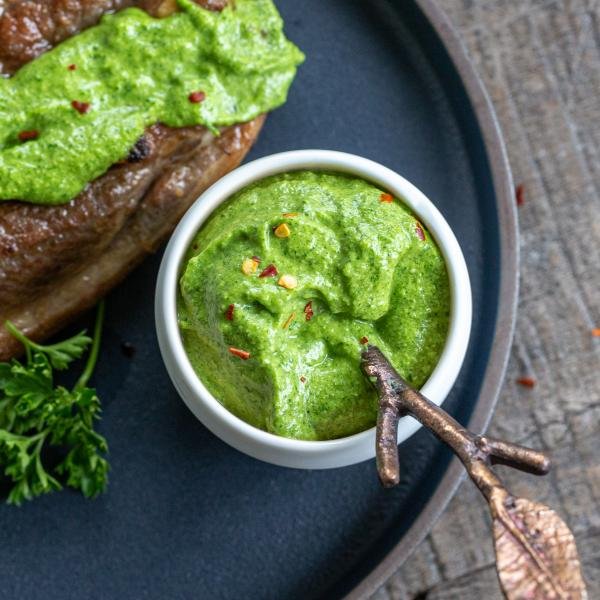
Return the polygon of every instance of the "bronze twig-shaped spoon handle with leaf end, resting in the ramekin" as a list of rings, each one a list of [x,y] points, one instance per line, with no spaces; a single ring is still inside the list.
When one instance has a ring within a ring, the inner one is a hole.
[[[503,464],[545,475],[550,470],[548,457],[468,431],[411,388],[376,346],[363,352],[362,368],[379,392],[376,449],[382,485],[393,487],[400,481],[398,420],[410,415],[450,446],[487,500],[505,596],[509,600],[585,600],[577,547],[567,525],[547,506],[512,496],[492,468]]]

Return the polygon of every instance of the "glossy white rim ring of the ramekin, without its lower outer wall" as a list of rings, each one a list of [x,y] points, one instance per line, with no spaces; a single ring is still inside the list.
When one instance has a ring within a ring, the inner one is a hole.
[[[375,428],[371,427],[333,440],[312,441],[285,438],[246,423],[221,404],[197,376],[183,346],[177,322],[177,287],[182,262],[193,237],[203,223],[218,206],[254,181],[299,170],[342,172],[379,185],[399,197],[424,223],[436,240],[446,262],[451,285],[451,315],[446,342],[434,371],[422,387],[424,395],[430,397],[436,404],[441,404],[445,400],[462,367],[470,337],[472,297],[464,256],[441,212],[414,184],[388,167],[370,159],[333,150],[308,149],[281,152],[258,158],[238,167],[202,193],[173,232],[160,267],[156,290],[156,321],[163,358],[165,352],[172,353],[171,367],[178,368],[185,384],[202,407],[222,420],[228,429],[234,429],[245,438],[273,450],[285,449],[313,455],[358,445],[366,438],[371,438]],[[162,323],[161,319],[164,319]],[[445,373],[447,370],[450,370],[449,376]],[[184,400],[189,406],[185,397]],[[410,437],[419,427],[420,425],[412,419],[400,423],[399,442]]]

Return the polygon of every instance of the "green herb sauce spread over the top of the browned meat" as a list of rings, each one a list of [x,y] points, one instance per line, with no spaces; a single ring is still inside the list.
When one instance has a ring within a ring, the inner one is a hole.
[[[67,202],[149,125],[217,133],[285,102],[304,57],[271,0],[178,5],[164,19],[105,15],[0,78],[0,200]]]

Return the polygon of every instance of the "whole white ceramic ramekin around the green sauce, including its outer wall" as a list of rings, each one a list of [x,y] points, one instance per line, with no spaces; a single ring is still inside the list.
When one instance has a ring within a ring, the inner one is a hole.
[[[258,179],[305,169],[349,173],[373,182],[404,200],[438,243],[450,278],[450,327],[440,360],[421,391],[436,404],[444,401],[460,371],[471,331],[471,286],[464,257],[450,226],[422,192],[390,169],[353,154],[328,150],[274,154],[239,167],[204,192],[179,223],[165,251],[156,285],[156,330],[173,384],[190,410],[215,435],[266,462],[301,469],[327,469],[372,458],[375,428],[337,440],[309,442],[283,438],[248,425],[220,404],[198,379],[177,325],[176,298],[182,259],[209,215],[235,192]],[[401,419],[398,442],[406,440],[419,427],[410,417]]]

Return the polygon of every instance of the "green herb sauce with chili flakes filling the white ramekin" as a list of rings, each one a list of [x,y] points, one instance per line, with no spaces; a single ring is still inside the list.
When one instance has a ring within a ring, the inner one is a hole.
[[[178,307],[194,369],[231,412],[325,440],[375,424],[362,344],[423,385],[449,298],[439,249],[398,199],[302,171],[259,181],[213,213],[189,249]]]

